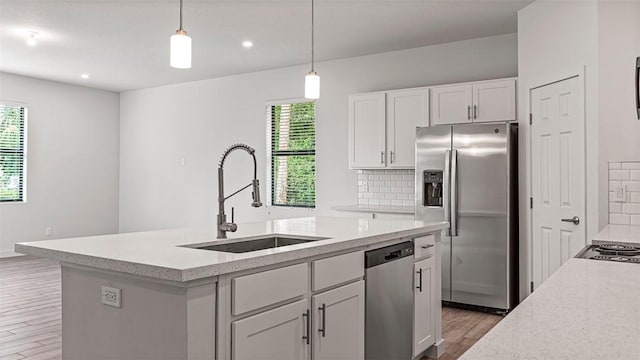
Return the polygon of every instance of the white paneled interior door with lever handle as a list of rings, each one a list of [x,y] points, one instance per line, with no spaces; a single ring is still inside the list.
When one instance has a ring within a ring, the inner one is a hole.
[[[582,84],[574,77],[531,90],[534,288],[586,244]]]

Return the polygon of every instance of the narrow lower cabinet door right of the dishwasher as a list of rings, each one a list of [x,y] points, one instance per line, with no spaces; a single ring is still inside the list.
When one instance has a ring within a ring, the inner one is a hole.
[[[434,258],[416,262],[414,270],[413,356],[418,356],[436,341],[433,309],[436,306],[434,284],[437,271]]]

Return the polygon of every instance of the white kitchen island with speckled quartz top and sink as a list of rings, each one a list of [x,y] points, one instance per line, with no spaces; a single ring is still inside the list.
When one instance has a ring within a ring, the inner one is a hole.
[[[446,226],[314,217],[239,224],[225,240],[215,239],[215,228],[175,229],[20,243],[16,251],[62,265],[65,359],[357,359],[364,357],[364,252],[413,241],[420,277],[404,281],[420,281],[415,304],[429,306],[414,310],[420,357],[443,351]],[[299,243],[198,249],[264,237]]]

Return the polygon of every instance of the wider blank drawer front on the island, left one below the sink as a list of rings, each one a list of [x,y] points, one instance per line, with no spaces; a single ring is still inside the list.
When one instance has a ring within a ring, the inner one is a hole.
[[[233,315],[306,294],[308,274],[309,267],[304,263],[234,278]]]

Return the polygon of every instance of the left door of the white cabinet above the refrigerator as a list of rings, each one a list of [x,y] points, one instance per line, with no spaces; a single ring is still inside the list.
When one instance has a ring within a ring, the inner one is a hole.
[[[471,85],[431,88],[431,125],[470,123],[472,94]]]

